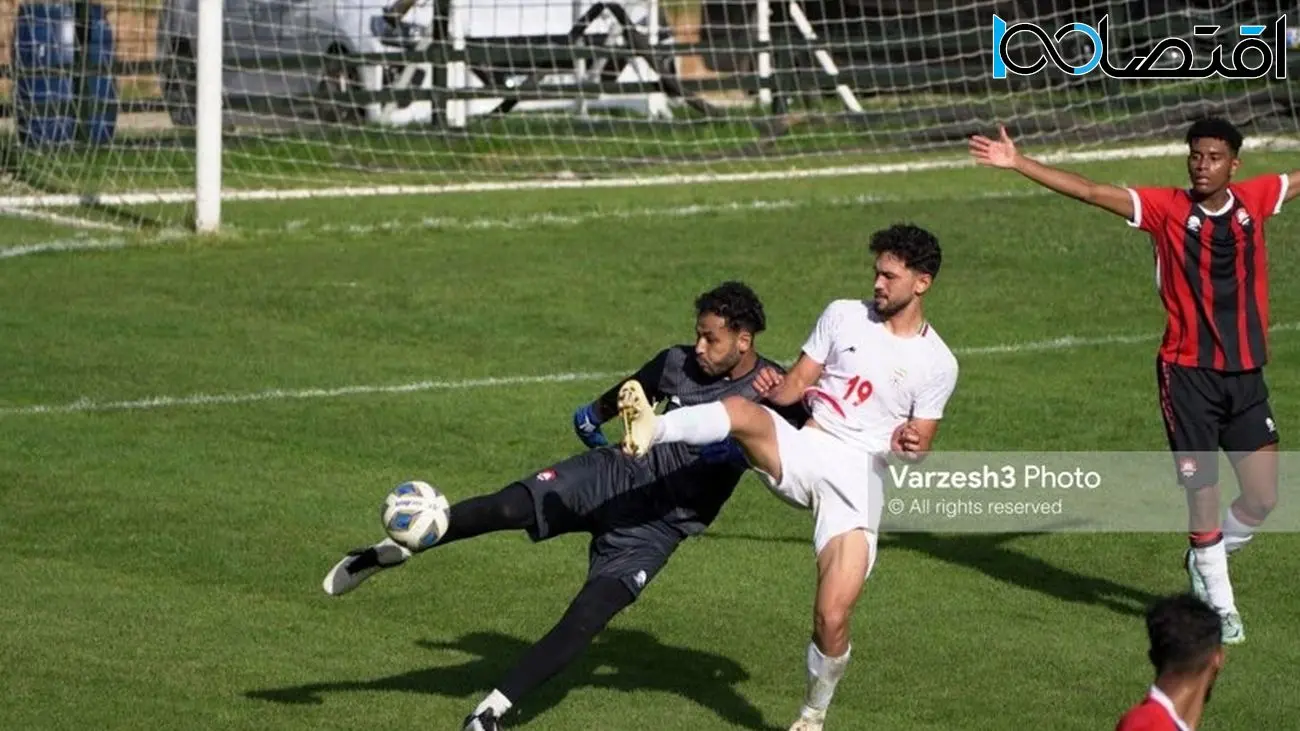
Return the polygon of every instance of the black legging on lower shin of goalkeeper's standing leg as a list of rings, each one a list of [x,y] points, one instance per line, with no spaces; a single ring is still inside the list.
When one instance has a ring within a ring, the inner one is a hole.
[[[588,581],[573,597],[559,623],[519,658],[497,689],[512,705],[564,670],[586,650],[592,640],[604,630],[614,615],[623,611],[636,597],[623,581],[598,578]]]

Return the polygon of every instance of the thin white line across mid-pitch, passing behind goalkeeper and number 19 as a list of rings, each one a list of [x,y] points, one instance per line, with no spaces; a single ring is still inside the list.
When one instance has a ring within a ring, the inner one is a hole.
[[[1271,332],[1300,330],[1300,323],[1284,323],[1270,328]],[[1158,334],[1101,336],[1101,337],[1061,337],[1044,341],[1011,342],[974,347],[957,347],[953,352],[965,355],[1014,355],[1024,352],[1045,352],[1054,350],[1074,350],[1080,347],[1135,345],[1160,339]],[[534,384],[567,384],[578,381],[603,381],[625,376],[624,371],[595,371],[543,373],[540,376],[499,376],[488,379],[464,379],[443,381],[415,381],[396,385],[355,385],[313,389],[270,389],[248,393],[155,395],[136,401],[91,401],[79,399],[72,403],[6,406],[0,407],[0,416],[23,416],[38,414],[77,414],[87,411],[147,411],[178,406],[224,406],[237,403],[256,403],[264,401],[295,401],[315,398],[338,398],[346,395],[402,394],[438,390],[493,389]]]

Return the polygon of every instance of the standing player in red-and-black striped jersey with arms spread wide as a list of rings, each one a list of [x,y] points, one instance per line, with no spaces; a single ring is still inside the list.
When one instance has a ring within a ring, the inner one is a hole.
[[[1278,428],[1264,382],[1269,280],[1264,222],[1300,193],[1300,172],[1236,182],[1242,133],[1206,118],[1187,130],[1190,187],[1119,187],[1043,165],[975,135],[976,161],[1017,170],[1056,193],[1123,216],[1150,234],[1156,287],[1169,316],[1156,358],[1161,415],[1178,480],[1187,488],[1192,591],[1223,620],[1223,641],[1245,639],[1227,554],[1251,540],[1278,499]],[[1219,520],[1218,450],[1242,489]]]

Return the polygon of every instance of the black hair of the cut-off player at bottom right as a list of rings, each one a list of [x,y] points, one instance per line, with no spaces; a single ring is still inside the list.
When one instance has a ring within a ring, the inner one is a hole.
[[[1205,669],[1210,656],[1222,645],[1219,618],[1195,594],[1165,597],[1147,610],[1147,658],[1156,675],[1165,672],[1196,674]]]

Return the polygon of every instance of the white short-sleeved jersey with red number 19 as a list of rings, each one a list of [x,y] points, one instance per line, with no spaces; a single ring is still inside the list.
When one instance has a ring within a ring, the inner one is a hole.
[[[837,299],[803,352],[822,377],[803,394],[818,425],[850,446],[887,451],[909,418],[941,419],[957,388],[957,358],[928,324],[914,336],[885,328],[871,302]]]

